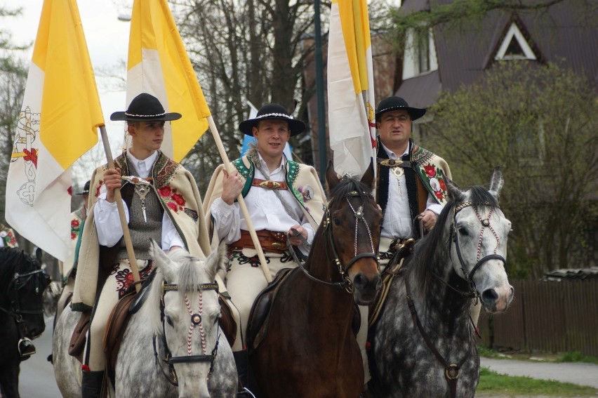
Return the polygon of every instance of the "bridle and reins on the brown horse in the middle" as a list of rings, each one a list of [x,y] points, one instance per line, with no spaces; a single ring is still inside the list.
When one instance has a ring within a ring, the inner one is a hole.
[[[325,246],[324,246],[326,248],[326,258],[328,258],[328,260],[331,260],[334,263],[334,265],[338,268],[338,273],[340,274],[340,280],[341,280],[340,282],[328,282],[328,281],[323,281],[321,279],[314,277],[312,274],[307,272],[307,270],[305,269],[305,262],[299,260],[297,258],[297,256],[295,255],[295,252],[291,250],[291,254],[293,255],[293,260],[295,260],[295,262],[298,263],[299,267],[301,268],[301,270],[303,270],[303,273],[308,278],[312,279],[312,281],[316,281],[316,282],[318,282],[320,284],[324,284],[326,286],[334,286],[336,288],[344,288],[348,293],[353,292],[353,283],[352,283],[351,279],[349,278],[348,272],[349,272],[350,268],[358,260],[360,260],[361,258],[373,258],[374,260],[376,260],[376,266],[378,267],[378,270],[380,270],[380,256],[378,256],[378,249],[374,248],[371,230],[370,230],[368,223],[366,223],[366,220],[364,218],[364,205],[361,204],[357,208],[357,211],[356,211],[350,201],[350,199],[352,197],[368,197],[373,200],[372,194],[368,193],[368,192],[361,192],[361,194],[360,194],[359,191],[354,190],[354,191],[347,192],[347,194],[345,194],[345,199],[347,200],[347,203],[349,204],[351,210],[353,211],[353,216],[355,218],[355,232],[354,232],[354,246],[353,246],[354,247],[354,256],[353,256],[353,258],[351,258],[351,260],[349,260],[349,262],[347,264],[343,265],[340,262],[340,258],[338,256],[338,251],[334,244],[334,236],[333,236],[333,230],[331,227],[331,215],[330,215],[330,208],[331,208],[331,204],[333,203],[334,198],[332,198],[328,202],[328,206],[326,208],[326,213],[325,213],[325,217],[324,217],[324,222],[322,223],[322,225],[324,227],[323,234],[326,239]],[[366,231],[368,232],[371,253],[364,252],[364,253],[357,254],[357,232],[359,230],[360,222],[365,225]],[[302,239],[302,241],[305,240],[300,235],[298,235],[298,237],[300,237],[300,239]],[[304,243],[305,243],[305,241],[304,241]],[[291,247],[291,245],[288,245],[288,246]],[[332,257],[331,257],[331,253],[328,252],[328,248],[330,248],[330,250],[332,252]]]

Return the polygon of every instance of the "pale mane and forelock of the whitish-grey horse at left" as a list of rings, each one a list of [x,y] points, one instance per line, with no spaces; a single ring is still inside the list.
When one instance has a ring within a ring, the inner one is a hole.
[[[173,251],[173,253],[169,254],[168,257],[170,257],[173,262],[178,263],[176,270],[178,276],[178,296],[180,305],[185,307],[185,293],[189,291],[197,291],[197,287],[204,283],[208,276],[206,275],[204,267],[199,267],[197,265],[197,263],[201,262],[202,260],[190,256],[189,253],[184,250]],[[145,303],[143,308],[149,310],[148,313],[150,322],[154,326],[154,330],[161,334],[162,321],[160,319],[160,313],[157,311],[157,308],[159,308],[160,305],[160,298],[162,294],[161,286],[162,282],[165,284],[171,284],[173,281],[166,281],[164,272],[162,272],[160,267],[157,267],[155,272],[156,274],[153,278],[152,284],[149,286],[150,292],[147,298],[148,303]]]

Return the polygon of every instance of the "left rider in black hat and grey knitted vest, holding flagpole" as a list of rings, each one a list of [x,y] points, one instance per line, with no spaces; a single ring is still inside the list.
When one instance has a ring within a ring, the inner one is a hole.
[[[91,178],[93,195],[81,238],[72,300],[73,310],[93,307],[82,366],[84,398],[99,397],[106,366],[102,338],[107,319],[119,298],[134,288],[115,190],[121,192],[142,279],[152,270],[151,239],[165,252],[185,248],[199,258],[210,252],[195,180],[160,151],[164,124],[180,117],[178,113],[165,112],[159,100],[147,93],[133,98],[125,112],[114,112],[110,117],[126,121],[132,145],[114,159],[115,168],[101,166]],[[102,286],[102,280],[105,281],[96,301],[96,286]]]

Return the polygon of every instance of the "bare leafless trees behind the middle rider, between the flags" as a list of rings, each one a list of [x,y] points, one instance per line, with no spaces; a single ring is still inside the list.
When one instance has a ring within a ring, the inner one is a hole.
[[[246,100],[260,107],[278,102],[306,120],[314,87],[303,86],[305,59],[312,49],[313,4],[289,0],[180,0],[173,5],[182,39],[197,70],[222,143],[231,159],[243,137],[238,126],[248,116]],[[210,135],[208,133],[208,135]],[[293,147],[298,141],[293,138]],[[185,165],[200,190],[221,163],[211,138],[204,137]]]

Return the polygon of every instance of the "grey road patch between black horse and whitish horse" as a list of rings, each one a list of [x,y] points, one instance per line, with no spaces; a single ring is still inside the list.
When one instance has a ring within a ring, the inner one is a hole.
[[[52,323],[46,317],[46,331],[33,340],[36,353],[21,362],[19,393],[21,398],[60,398],[52,364],[46,360],[52,352]]]

